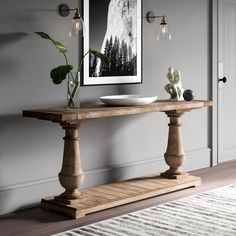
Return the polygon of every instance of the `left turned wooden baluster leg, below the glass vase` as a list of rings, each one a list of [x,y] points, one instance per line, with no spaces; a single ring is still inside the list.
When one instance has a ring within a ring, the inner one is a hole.
[[[65,188],[59,199],[78,199],[79,187],[84,182],[84,172],[80,163],[79,147],[79,124],[62,125],[65,129],[64,154],[61,172],[59,173],[60,184]]]

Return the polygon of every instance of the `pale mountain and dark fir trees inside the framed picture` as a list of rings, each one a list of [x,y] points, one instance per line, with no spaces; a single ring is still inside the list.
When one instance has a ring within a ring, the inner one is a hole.
[[[111,68],[90,57],[90,76],[137,75],[137,0],[111,0],[107,29],[101,52],[111,60]]]

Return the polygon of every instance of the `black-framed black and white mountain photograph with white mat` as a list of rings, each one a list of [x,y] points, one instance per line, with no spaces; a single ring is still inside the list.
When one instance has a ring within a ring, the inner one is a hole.
[[[142,82],[142,0],[85,0],[83,51],[104,53],[110,68],[86,57],[83,85]]]

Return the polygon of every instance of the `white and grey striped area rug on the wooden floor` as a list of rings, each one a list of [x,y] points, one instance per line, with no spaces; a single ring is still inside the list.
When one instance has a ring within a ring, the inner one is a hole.
[[[236,236],[236,185],[56,234],[79,235]]]

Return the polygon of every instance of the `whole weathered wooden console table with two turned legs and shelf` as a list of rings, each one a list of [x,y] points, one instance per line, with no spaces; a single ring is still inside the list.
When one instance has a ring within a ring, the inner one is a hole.
[[[59,173],[59,181],[65,188],[65,192],[60,196],[42,199],[42,207],[63,212],[73,218],[80,218],[92,212],[200,185],[199,177],[190,176],[181,170],[186,158],[181,136],[181,116],[192,109],[210,106],[212,106],[211,101],[163,100],[144,106],[97,105],[78,110],[58,108],[23,111],[25,117],[56,122],[65,130],[63,164]],[[79,191],[79,187],[84,182],[78,133],[81,125],[91,119],[146,112],[165,112],[170,119],[167,150],[164,154],[170,168],[161,175],[146,176]]]

